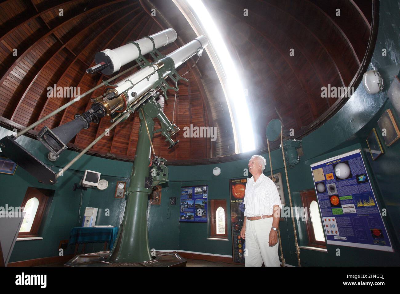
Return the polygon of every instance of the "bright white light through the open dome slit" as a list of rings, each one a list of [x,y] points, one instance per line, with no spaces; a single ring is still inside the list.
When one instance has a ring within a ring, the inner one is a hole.
[[[192,7],[198,19],[203,25],[206,32],[206,37],[208,41],[212,44],[214,51],[216,52],[220,64],[224,69],[224,74],[226,76],[227,85],[226,92],[228,99],[231,102],[231,107],[236,114],[237,124],[236,130],[240,133],[240,146],[241,151],[246,152],[255,149],[254,136],[253,136],[253,126],[252,120],[250,118],[250,113],[247,107],[247,100],[244,96],[244,88],[242,85],[241,78],[236,66],[230,57],[228,48],[224,43],[224,40],[211,18],[206,7],[201,0],[186,0],[188,4]]]

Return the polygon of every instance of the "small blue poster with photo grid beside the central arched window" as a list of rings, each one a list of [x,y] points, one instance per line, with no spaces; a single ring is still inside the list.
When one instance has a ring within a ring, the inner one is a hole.
[[[180,222],[207,222],[208,186],[182,187]]]

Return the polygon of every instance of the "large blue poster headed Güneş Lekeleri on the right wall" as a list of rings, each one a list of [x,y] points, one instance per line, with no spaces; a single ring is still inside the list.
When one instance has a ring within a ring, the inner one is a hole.
[[[311,171],[327,244],[393,251],[360,149]]]

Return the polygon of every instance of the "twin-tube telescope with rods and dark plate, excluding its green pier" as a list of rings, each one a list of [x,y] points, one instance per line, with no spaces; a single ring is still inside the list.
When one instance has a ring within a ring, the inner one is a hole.
[[[118,81],[116,84],[112,85],[108,83],[108,81],[116,79],[126,71],[121,72],[110,80],[103,82],[58,108],[38,122],[28,126],[25,130],[16,134],[16,136],[2,138],[0,140],[0,146],[4,154],[38,178],[40,182],[55,184],[59,175],[56,175],[54,171],[38,160],[38,158],[32,155],[28,150],[20,146],[15,140],[18,136],[26,133],[50,116],[60,112],[103,85],[106,85],[103,94],[91,99],[92,105],[88,111],[82,114],[76,114],[74,120],[52,130],[47,126],[44,126],[44,128],[40,130],[37,139],[50,151],[48,154],[49,160],[57,160],[59,155],[68,148],[68,142],[70,142],[80,130],[89,128],[92,122],[97,124],[101,118],[109,117],[110,121],[114,123],[108,128],[108,130],[110,130],[119,122],[126,120],[132,112],[147,102],[151,105],[149,104],[143,109],[149,112],[147,115],[150,114],[150,116],[160,120],[162,126],[160,132],[166,138],[166,141],[169,142],[169,148],[175,146],[179,141],[174,142],[171,136],[176,134],[179,128],[176,124],[168,120],[160,104],[155,101],[155,98],[160,94],[159,92],[162,91],[165,98],[168,99],[166,96],[167,90],[178,90],[177,87],[170,86],[166,78],[170,77],[176,85],[178,80],[188,81],[178,74],[176,68],[195,54],[200,56],[203,48],[208,45],[207,38],[205,36],[199,36],[166,56],[158,51],[158,48],[174,42],[176,37],[175,30],[169,28],[151,36],[145,36],[140,40],[130,41],[118,48],[112,50],[106,49],[98,52],[95,55],[96,65],[88,68],[86,70],[87,73],[93,74],[101,71],[103,74],[112,74],[120,70],[121,66],[134,60],[136,60],[138,63],[136,66],[140,66],[140,69],[130,74],[127,78]],[[148,59],[144,57],[144,55],[148,53],[150,53],[154,61],[149,62]],[[94,146],[102,136],[104,136],[104,134],[96,138],[85,150],[87,151]],[[159,162],[156,163],[159,167]],[[69,166],[67,168],[69,168]],[[63,171],[65,172],[65,169]]]

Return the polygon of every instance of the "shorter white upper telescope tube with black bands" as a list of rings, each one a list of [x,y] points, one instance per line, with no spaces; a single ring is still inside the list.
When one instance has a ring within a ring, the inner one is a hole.
[[[155,47],[160,48],[174,42],[177,35],[173,28],[168,28],[151,35],[150,37],[153,38]],[[94,56],[94,61],[96,64],[109,62],[110,65],[104,68],[101,72],[103,74],[112,74],[120,70],[121,66],[124,66],[125,64],[138,58],[140,53],[144,55],[153,51],[153,42],[147,37],[137,40],[135,43],[139,45],[140,52],[138,47],[132,43],[128,43],[112,50],[106,49],[97,52]]]

